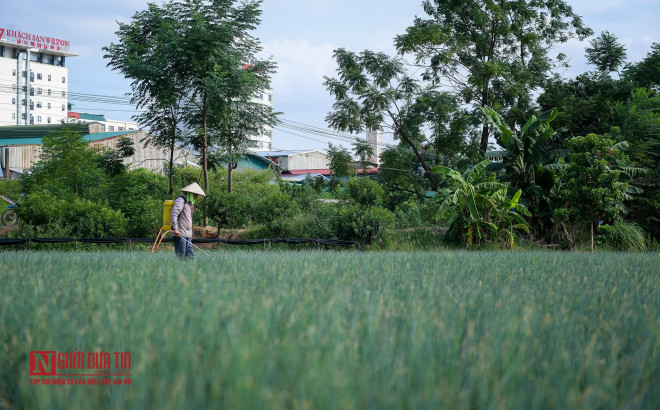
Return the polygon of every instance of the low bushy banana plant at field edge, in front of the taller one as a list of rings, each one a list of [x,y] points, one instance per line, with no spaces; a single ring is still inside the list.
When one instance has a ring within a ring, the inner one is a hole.
[[[529,232],[529,225],[522,215],[530,214],[519,203],[521,190],[512,199],[507,199],[507,186],[486,171],[489,162],[480,162],[465,175],[445,166],[432,169],[433,173],[444,175],[453,182],[452,188],[439,192],[442,202],[437,216],[446,221],[449,239],[471,246],[499,235],[505,238],[508,246],[512,246],[514,229]]]

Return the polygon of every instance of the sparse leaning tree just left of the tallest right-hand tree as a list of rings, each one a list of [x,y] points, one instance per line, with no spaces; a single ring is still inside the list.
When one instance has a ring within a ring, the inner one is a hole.
[[[359,54],[334,52],[338,77],[325,77],[325,86],[335,97],[328,124],[345,132],[359,133],[382,128],[412,150],[434,189],[438,181],[431,167],[440,154],[467,153],[464,133],[449,130],[458,123],[457,101],[437,85],[424,84],[407,74],[399,58],[365,50]],[[436,151],[428,152],[432,148]]]

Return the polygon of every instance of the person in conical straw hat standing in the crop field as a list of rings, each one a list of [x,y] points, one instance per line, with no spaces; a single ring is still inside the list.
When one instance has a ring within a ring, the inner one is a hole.
[[[183,195],[174,200],[170,219],[174,233],[174,252],[180,258],[194,258],[192,246],[192,214],[195,211],[195,199],[206,196],[196,182],[181,189]]]

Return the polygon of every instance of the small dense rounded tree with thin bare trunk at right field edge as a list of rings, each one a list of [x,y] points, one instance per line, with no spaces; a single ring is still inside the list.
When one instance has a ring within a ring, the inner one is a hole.
[[[569,165],[561,175],[565,206],[555,213],[558,220],[589,225],[592,252],[598,222],[613,221],[623,209],[630,177],[615,165],[626,146],[597,134],[575,137],[566,143]]]

